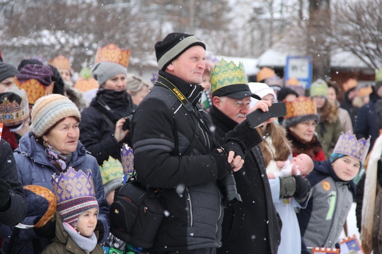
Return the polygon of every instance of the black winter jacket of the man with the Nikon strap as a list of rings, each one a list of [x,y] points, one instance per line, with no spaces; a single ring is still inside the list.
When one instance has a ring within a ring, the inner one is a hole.
[[[178,93],[162,85],[169,82]],[[131,140],[138,179],[145,186],[163,188],[161,198],[170,213],[163,218],[151,251],[222,245],[223,204],[216,179],[219,171],[232,168],[226,155],[210,154],[215,150],[213,137],[178,99],[186,98],[192,103],[188,109],[211,126],[209,115],[197,105],[202,90],[159,71],[154,87],[133,114]],[[183,155],[196,134],[191,155]]]

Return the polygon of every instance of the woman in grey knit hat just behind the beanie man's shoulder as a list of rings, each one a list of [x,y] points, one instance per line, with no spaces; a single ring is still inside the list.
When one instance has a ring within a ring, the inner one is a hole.
[[[142,102],[143,98],[147,96],[154,84],[143,80],[142,77],[132,74],[128,74],[126,79],[127,92],[131,96],[132,103],[138,106]]]

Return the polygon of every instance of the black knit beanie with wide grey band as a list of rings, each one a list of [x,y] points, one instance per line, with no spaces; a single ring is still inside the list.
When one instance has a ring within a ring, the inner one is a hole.
[[[168,34],[163,41],[155,43],[156,61],[158,62],[159,70],[166,70],[166,67],[174,59],[190,47],[197,45],[206,49],[206,45],[195,35],[183,33]]]

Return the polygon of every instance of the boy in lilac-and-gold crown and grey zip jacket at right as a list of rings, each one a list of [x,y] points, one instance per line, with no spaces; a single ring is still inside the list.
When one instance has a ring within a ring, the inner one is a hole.
[[[308,206],[297,214],[303,250],[304,243],[339,248],[339,236],[356,194],[352,180],[363,166],[369,146],[370,139],[357,140],[347,132],[339,137],[329,160],[315,162],[306,177],[311,184]]]

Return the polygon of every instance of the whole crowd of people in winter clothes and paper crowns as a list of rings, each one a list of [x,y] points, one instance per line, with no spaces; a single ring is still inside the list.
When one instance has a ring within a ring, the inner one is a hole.
[[[154,50],[152,82],[128,72],[130,50],[115,44],[75,81],[62,55],[0,61],[4,253],[309,253],[339,248],[354,199],[365,249],[382,249],[382,81],[322,78],[308,92],[263,68],[248,82],[242,63],[207,60],[184,33]],[[276,102],[284,116],[248,122]],[[110,232],[126,145],[165,206],[150,248]]]

